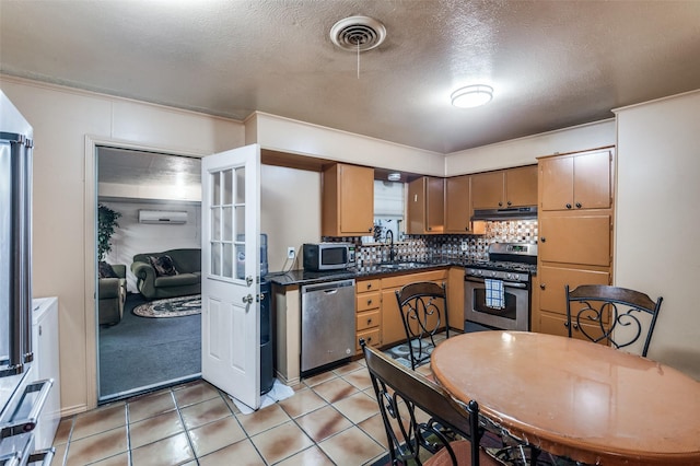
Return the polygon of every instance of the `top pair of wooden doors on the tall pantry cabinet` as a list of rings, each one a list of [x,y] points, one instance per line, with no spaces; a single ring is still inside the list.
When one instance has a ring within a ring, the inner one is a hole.
[[[541,209],[610,208],[611,161],[609,149],[540,159]]]

